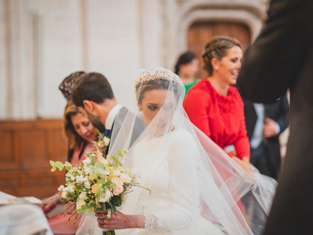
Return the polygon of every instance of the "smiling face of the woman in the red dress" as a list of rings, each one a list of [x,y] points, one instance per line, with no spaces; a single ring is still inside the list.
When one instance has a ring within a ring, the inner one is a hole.
[[[242,58],[242,49],[238,46],[231,47],[221,61],[216,61],[213,70],[224,83],[235,85],[241,68]]]

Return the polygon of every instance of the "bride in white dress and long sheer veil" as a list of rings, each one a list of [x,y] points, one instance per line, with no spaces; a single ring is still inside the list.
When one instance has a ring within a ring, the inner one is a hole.
[[[131,100],[128,93],[123,92],[125,102]],[[251,193],[254,196],[246,201],[258,210],[250,211],[268,212],[274,183],[266,180],[270,189],[264,197],[258,173],[248,175],[189,121],[182,108],[184,93],[179,76],[171,71],[140,73],[136,102],[127,106],[122,128],[113,130],[110,152],[130,147],[134,120],[142,116],[147,127],[129,149],[124,166],[138,173],[138,182],[152,192],[135,188],[110,219],[107,211],[84,217],[77,234],[101,234],[101,229],[117,235],[252,234],[249,225],[258,216],[245,218],[248,213],[243,215],[240,199]],[[132,109],[135,106],[140,114]],[[264,226],[262,216],[260,220]]]

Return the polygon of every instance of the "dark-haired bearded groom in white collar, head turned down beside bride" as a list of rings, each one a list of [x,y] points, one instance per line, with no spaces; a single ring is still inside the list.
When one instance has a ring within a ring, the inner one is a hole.
[[[118,133],[128,113],[128,109],[116,101],[108,79],[98,72],[82,75],[73,88],[71,99],[79,109],[86,110],[92,125],[110,139],[113,126],[114,133]],[[130,146],[145,128],[144,122],[138,118],[135,119],[134,126],[137,132],[133,133]],[[105,155],[108,151],[109,147],[106,148]]]

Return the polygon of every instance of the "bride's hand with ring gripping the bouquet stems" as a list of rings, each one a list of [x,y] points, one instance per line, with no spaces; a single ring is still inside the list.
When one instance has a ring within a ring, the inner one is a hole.
[[[120,211],[111,211],[111,218],[108,219],[108,211],[96,211],[98,226],[101,229],[117,230],[117,229],[132,229],[145,228],[144,215],[128,215]]]

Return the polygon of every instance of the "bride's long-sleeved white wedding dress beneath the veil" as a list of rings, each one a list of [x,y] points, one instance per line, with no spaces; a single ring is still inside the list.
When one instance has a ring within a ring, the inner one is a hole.
[[[160,141],[167,144],[161,145]],[[164,148],[156,149],[156,146]],[[133,156],[133,171],[138,171],[141,179],[147,179],[144,186],[150,188],[152,193],[142,193],[136,205],[142,208],[142,211],[137,212],[146,215],[145,230],[136,229],[127,234],[160,232],[167,235],[172,234],[171,231],[181,235],[224,234],[201,216],[197,172],[200,167],[200,155],[189,132],[177,129],[162,138],[145,138],[134,147]],[[142,164],[143,162],[154,164],[146,165]],[[126,201],[126,210],[128,203],[133,202]],[[118,230],[115,233],[120,234]]]

